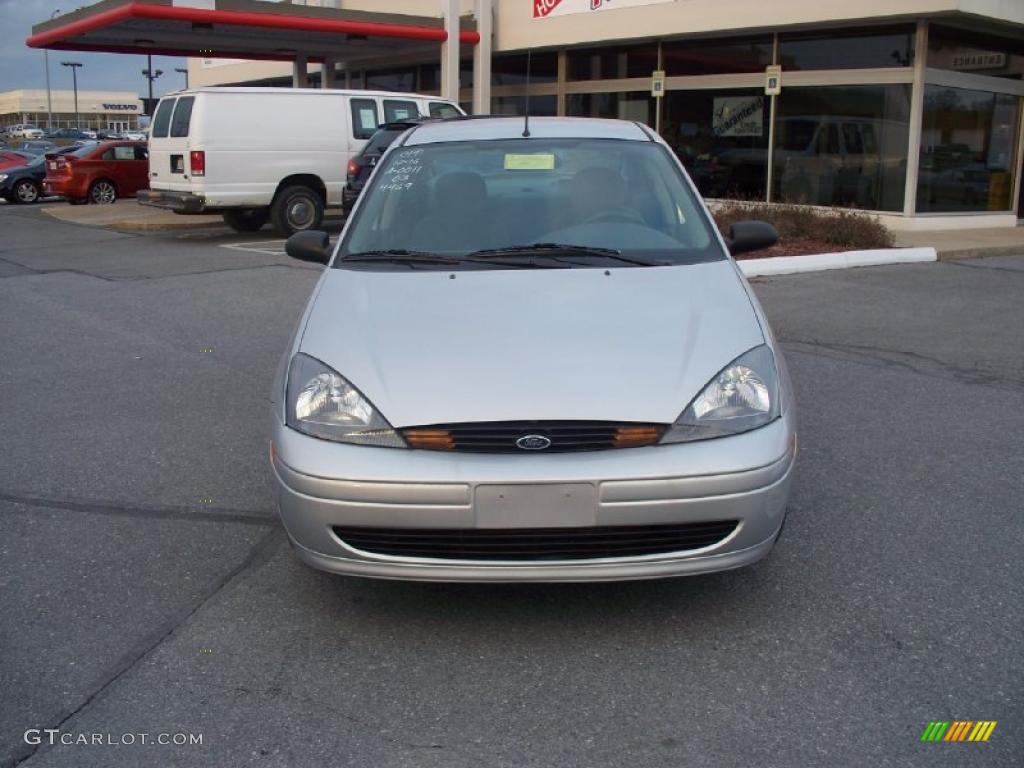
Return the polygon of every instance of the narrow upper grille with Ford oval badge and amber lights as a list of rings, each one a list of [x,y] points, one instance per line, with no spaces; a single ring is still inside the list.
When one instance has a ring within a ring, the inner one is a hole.
[[[469,422],[407,427],[401,433],[414,449],[550,454],[652,445],[662,438],[665,425],[610,421]],[[517,444],[521,438],[531,436],[549,440],[550,444],[541,449]]]

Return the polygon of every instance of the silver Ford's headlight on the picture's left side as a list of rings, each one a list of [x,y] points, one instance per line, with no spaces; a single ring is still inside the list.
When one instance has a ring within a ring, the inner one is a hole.
[[[286,422],[299,432],[339,442],[406,447],[358,389],[307,354],[292,358],[287,403]]]

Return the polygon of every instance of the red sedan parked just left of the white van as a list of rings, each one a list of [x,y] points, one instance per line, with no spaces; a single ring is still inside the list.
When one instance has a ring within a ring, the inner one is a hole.
[[[71,203],[113,203],[148,185],[150,154],[143,141],[103,141],[46,156],[43,188]]]

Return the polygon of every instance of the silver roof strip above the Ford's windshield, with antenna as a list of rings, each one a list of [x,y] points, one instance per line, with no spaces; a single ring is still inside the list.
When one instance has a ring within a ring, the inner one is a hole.
[[[406,145],[523,138],[523,127],[524,120],[521,117],[451,118],[424,123],[410,134]],[[602,118],[530,118],[529,137],[652,140],[638,123]]]

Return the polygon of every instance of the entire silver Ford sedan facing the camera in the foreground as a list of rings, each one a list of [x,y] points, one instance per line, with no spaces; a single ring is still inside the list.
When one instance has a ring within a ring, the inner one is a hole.
[[[764,557],[795,408],[682,165],[638,123],[428,123],[384,156],[272,389],[298,556],[428,581],[646,579]]]

